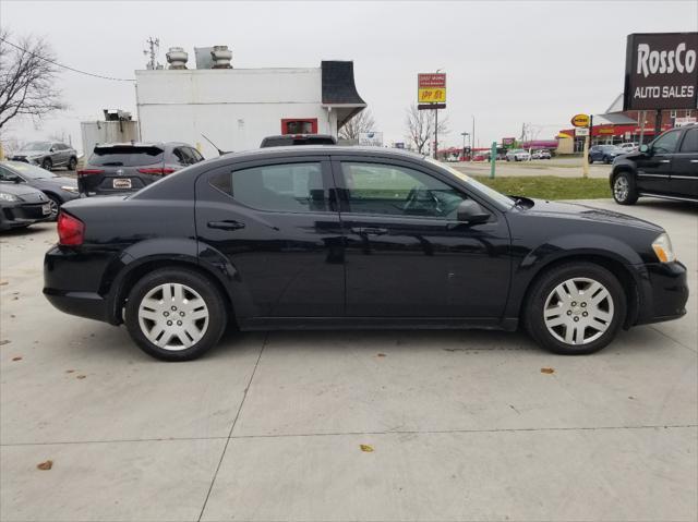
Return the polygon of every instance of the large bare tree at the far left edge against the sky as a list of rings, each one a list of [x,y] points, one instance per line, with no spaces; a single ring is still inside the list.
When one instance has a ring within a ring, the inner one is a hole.
[[[64,109],[56,87],[58,66],[50,46],[41,38],[20,38],[16,46],[0,32],[0,129],[15,117],[40,120]]]

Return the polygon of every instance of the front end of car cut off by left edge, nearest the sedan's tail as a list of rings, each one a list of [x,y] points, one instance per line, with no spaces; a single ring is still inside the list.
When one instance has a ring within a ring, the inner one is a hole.
[[[20,181],[0,180],[0,230],[25,228],[51,214],[48,197]]]

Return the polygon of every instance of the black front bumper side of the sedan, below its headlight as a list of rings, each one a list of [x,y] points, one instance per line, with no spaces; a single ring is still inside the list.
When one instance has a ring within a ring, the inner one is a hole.
[[[642,295],[636,325],[686,315],[688,283],[683,263],[652,263],[645,265],[642,272]]]

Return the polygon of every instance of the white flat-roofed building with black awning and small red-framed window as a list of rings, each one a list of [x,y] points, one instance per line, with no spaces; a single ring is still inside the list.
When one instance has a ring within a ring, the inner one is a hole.
[[[203,135],[226,151],[257,148],[262,138],[276,134],[337,136],[365,107],[350,61],[323,61],[310,69],[224,65],[135,75],[141,141],[186,142],[206,158],[218,153]]]

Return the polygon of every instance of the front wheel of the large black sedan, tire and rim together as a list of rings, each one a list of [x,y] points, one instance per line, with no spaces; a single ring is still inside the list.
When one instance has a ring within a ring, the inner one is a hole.
[[[562,355],[586,355],[615,338],[626,309],[625,292],[617,278],[599,265],[580,262],[553,268],[533,283],[524,324],[544,349]]]

